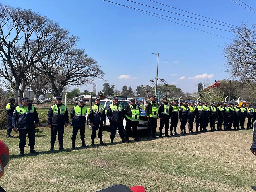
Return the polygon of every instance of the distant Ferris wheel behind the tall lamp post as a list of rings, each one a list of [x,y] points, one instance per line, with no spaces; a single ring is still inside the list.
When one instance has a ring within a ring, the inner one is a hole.
[[[166,89],[164,88],[166,86]],[[169,92],[168,89],[168,83],[161,78],[157,78],[157,88],[156,88],[156,93],[158,95],[156,95],[156,97],[161,98],[161,94],[160,91],[166,91],[166,95],[168,95],[167,93]],[[155,94],[155,87],[156,87],[156,78],[155,79],[150,79],[150,81],[148,82],[148,84],[146,85],[146,90],[145,90],[145,96],[149,97],[150,95],[154,95]]]

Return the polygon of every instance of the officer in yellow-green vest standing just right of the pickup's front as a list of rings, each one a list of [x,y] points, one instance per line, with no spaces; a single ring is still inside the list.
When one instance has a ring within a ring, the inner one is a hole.
[[[151,130],[153,138],[156,137],[156,124],[158,115],[158,104],[156,102],[156,96],[151,95],[150,100],[146,104],[145,112],[148,118],[148,140],[151,140]]]

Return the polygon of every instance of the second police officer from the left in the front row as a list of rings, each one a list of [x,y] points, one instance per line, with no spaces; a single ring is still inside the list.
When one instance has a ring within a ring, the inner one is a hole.
[[[63,148],[64,125],[69,125],[69,113],[67,106],[62,104],[62,97],[56,97],[55,104],[52,105],[47,113],[48,127],[51,128],[51,149],[54,150],[56,135],[58,133],[59,150]]]

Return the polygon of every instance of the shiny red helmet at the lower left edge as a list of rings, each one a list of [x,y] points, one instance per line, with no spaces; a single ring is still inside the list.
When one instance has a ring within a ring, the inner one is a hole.
[[[5,173],[10,161],[10,153],[7,145],[0,140],[0,177]]]

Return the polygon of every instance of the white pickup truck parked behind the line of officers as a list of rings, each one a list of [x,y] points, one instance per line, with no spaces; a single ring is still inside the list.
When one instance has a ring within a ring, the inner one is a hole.
[[[106,111],[107,111],[108,106],[110,106],[110,104],[112,104],[112,103],[113,103],[113,100],[109,100],[109,99],[102,99],[100,101],[100,104],[104,105],[104,108],[105,108]],[[130,101],[119,99],[118,103],[121,104],[123,106],[123,108],[125,108],[126,105],[130,104]],[[87,119],[87,125],[88,125],[89,129],[92,129],[92,127],[90,126],[88,113],[86,114],[86,119]],[[108,120],[108,117],[106,119],[106,125],[110,126],[110,122]],[[126,125],[126,120],[125,119],[123,120],[123,125],[124,125],[124,129],[125,129],[125,125]],[[147,127],[148,127],[148,119],[147,119],[145,110],[141,110],[140,111],[140,121],[139,121],[139,125],[138,125],[137,130],[147,129]],[[132,130],[132,128],[131,128],[131,130]],[[116,131],[116,136],[120,137],[118,129]]]

